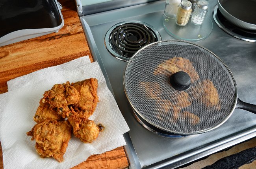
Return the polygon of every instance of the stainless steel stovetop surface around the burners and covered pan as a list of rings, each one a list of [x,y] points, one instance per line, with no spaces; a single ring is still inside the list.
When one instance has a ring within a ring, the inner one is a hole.
[[[237,82],[239,99],[256,103],[256,43],[228,35],[213,20],[217,0],[209,0],[208,16],[213,22],[209,37],[195,42],[219,56],[230,68]],[[163,28],[165,1],[115,9],[80,17],[93,58],[100,65],[117,104],[130,127],[124,134],[130,168],[174,168],[202,158],[256,136],[256,115],[235,109],[221,127],[184,138],[166,138],[140,125],[125,96],[123,75],[127,62],[113,57],[106,48],[105,37],[120,22],[144,22],[158,31],[162,40],[174,39]],[[131,37],[131,41],[138,37]]]

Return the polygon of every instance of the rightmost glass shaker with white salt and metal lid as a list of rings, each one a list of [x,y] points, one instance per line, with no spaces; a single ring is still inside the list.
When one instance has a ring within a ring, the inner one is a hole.
[[[195,25],[201,25],[208,11],[208,2],[206,0],[199,0],[193,12],[191,22]]]

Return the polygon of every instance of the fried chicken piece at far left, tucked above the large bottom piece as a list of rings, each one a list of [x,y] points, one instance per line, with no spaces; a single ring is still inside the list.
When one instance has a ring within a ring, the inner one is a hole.
[[[35,116],[33,117],[34,121],[37,123],[42,123],[45,120],[54,121],[54,120],[61,120],[61,116],[57,114],[55,108],[50,108],[50,104],[43,103],[43,99],[39,102],[39,107],[35,112]]]

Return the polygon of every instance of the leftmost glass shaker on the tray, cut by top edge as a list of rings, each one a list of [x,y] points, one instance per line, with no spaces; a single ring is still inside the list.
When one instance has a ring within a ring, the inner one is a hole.
[[[176,18],[180,3],[181,0],[166,0],[163,15],[165,15],[167,18]]]

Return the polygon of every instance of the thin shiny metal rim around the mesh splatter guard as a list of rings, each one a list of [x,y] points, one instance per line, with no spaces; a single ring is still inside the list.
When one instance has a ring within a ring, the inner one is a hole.
[[[195,132],[177,132],[177,131],[174,131],[174,130],[167,130],[163,127],[160,127],[154,123],[152,123],[151,121],[149,121],[147,118],[145,118],[135,107],[134,105],[132,104],[130,98],[128,97],[128,94],[126,92],[126,81],[125,81],[125,75],[126,75],[126,69],[127,67],[132,64],[132,61],[133,61],[133,58],[136,57],[137,53],[139,53],[141,50],[144,50],[145,48],[147,48],[148,46],[150,45],[153,45],[153,44],[156,44],[156,43],[162,43],[162,42],[184,42],[184,43],[188,43],[188,44],[191,44],[191,45],[194,45],[194,46],[197,46],[199,48],[202,48],[203,50],[206,50],[208,52],[210,52],[213,56],[215,56],[217,59],[219,59],[219,61],[221,61],[223,63],[223,65],[226,67],[226,69],[228,70],[228,72],[230,73],[231,77],[232,77],[232,80],[234,82],[234,86],[235,86],[235,100],[234,100],[234,105],[232,107],[232,110],[229,112],[228,116],[226,116],[226,118],[223,119],[223,121],[213,127],[210,127],[208,129],[204,129],[204,130],[199,130],[199,131],[195,131]],[[151,43],[151,44],[148,44],[147,46],[144,46],[143,48],[141,48],[140,50],[138,50],[136,53],[134,53],[134,55],[131,57],[130,61],[127,63],[126,65],[126,68],[125,68],[125,71],[124,71],[124,92],[125,92],[125,95],[130,103],[130,105],[132,106],[132,108],[134,109],[134,111],[137,113],[138,116],[140,116],[141,118],[143,118],[145,121],[147,121],[148,123],[150,123],[151,125],[153,125],[154,127],[158,128],[158,129],[161,129],[161,130],[164,130],[166,132],[170,132],[170,133],[174,133],[174,134],[180,134],[180,135],[191,135],[191,134],[200,134],[200,133],[204,133],[204,132],[208,132],[210,130],[213,130],[213,129],[216,129],[217,127],[221,126],[224,122],[226,122],[228,120],[228,118],[232,115],[232,113],[234,112],[235,108],[236,108],[236,103],[237,103],[237,86],[236,86],[236,80],[234,79],[234,76],[232,74],[232,72],[230,71],[230,69],[228,68],[228,66],[217,56],[215,55],[212,51],[198,45],[198,44],[195,44],[195,43],[192,43],[192,42],[188,42],[186,40],[161,40],[161,41],[158,41],[158,42],[154,42],[154,43]]]

